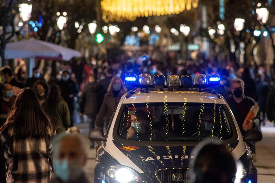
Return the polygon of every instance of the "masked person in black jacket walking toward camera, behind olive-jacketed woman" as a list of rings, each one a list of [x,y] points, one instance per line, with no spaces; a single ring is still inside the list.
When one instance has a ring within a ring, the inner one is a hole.
[[[65,70],[62,74],[62,79],[57,83],[61,88],[61,96],[67,102],[70,115],[71,124],[74,125],[74,110],[75,110],[75,97],[77,97],[79,89],[75,81],[72,81],[69,72]]]

